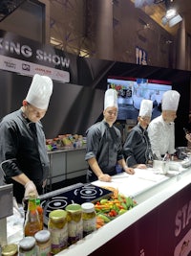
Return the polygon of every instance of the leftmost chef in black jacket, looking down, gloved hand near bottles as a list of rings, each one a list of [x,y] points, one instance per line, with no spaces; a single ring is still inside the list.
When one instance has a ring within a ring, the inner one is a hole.
[[[46,114],[53,81],[35,74],[23,105],[5,116],[0,123],[0,168],[6,183],[13,183],[18,202],[30,192],[42,194],[48,173],[49,158],[40,120]]]

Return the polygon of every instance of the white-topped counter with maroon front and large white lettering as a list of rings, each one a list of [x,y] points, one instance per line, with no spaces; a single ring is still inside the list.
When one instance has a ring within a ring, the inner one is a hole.
[[[135,171],[93,184],[115,187],[138,205],[57,255],[191,255],[191,168]]]

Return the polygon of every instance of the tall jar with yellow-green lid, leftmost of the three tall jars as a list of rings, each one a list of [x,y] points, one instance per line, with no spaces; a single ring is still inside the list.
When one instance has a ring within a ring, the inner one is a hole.
[[[49,215],[48,230],[51,232],[52,253],[56,254],[68,246],[68,221],[65,210],[53,210]]]

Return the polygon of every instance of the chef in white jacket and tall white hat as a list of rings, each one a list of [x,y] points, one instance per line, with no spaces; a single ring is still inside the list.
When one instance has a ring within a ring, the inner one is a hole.
[[[169,90],[162,95],[161,115],[150,123],[148,134],[151,148],[158,159],[171,158],[175,153],[175,119],[180,102],[180,93]]]

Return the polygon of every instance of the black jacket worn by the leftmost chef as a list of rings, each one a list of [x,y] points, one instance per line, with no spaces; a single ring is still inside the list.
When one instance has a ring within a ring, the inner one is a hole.
[[[24,187],[11,179],[22,173],[33,181],[40,192],[43,180],[49,174],[49,158],[41,123],[30,122],[19,109],[3,118],[0,134],[0,164],[6,183],[13,183],[14,196],[20,201],[24,195]]]

